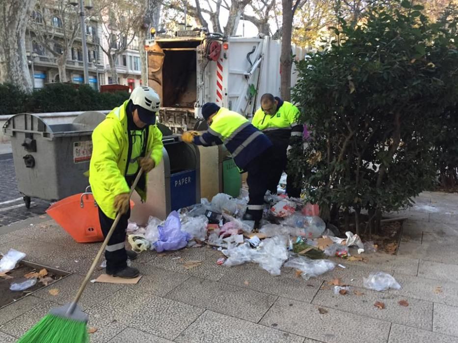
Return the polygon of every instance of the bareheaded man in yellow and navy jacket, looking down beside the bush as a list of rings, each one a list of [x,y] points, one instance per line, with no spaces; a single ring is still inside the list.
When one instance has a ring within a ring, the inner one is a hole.
[[[273,144],[274,162],[270,169],[269,191],[277,194],[281,174],[287,169],[287,152],[295,145],[302,144],[304,127],[299,120],[299,110],[291,102],[267,93],[261,97],[261,108],[253,116],[251,123],[261,130]],[[301,177],[290,172],[286,181],[286,193],[299,197]]]

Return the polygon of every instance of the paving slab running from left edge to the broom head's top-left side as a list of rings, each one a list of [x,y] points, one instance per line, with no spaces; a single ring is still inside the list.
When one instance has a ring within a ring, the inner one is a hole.
[[[27,311],[23,315],[1,325],[0,331],[7,332],[8,334],[19,338],[31,327],[33,327],[33,325],[45,317],[49,310],[54,307],[59,307],[59,305],[51,301],[40,302],[30,311]]]

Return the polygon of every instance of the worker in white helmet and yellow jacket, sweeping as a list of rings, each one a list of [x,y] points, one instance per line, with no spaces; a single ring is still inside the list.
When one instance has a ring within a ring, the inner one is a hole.
[[[99,207],[100,226],[104,236],[116,214],[122,213],[105,249],[106,272],[123,278],[138,276],[139,270],[128,267],[126,228],[130,217],[129,190],[136,174],[143,168],[136,192],[146,200],[147,173],[162,159],[162,133],[156,126],[161,99],[150,87],[135,88],[128,100],[113,109],[92,134],[92,157],[89,182]],[[150,155],[146,155],[147,151]]]

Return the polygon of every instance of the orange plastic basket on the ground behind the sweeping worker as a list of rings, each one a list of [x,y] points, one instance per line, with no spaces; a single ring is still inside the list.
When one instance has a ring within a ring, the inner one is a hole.
[[[134,202],[131,200],[131,208]],[[78,243],[102,242],[99,210],[91,193],[68,196],[51,205],[46,213]]]

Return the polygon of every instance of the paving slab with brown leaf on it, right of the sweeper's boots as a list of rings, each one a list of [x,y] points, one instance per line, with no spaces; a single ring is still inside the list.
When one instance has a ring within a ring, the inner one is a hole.
[[[216,264],[220,252],[207,247],[185,248],[179,251],[165,253],[164,256],[153,253],[151,256],[151,261],[147,262],[146,265],[177,271],[212,281],[219,280],[227,272],[227,268]],[[202,261],[202,264],[193,269],[186,270],[184,264],[188,261]]]

